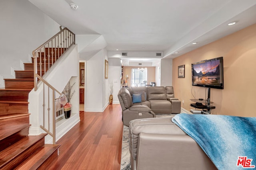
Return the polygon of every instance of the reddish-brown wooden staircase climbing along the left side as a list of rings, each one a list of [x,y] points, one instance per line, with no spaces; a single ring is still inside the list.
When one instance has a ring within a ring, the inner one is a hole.
[[[41,53],[41,56],[55,55],[50,52],[51,48],[44,51],[45,54]],[[63,48],[58,51],[63,51]],[[46,57],[46,64],[41,67],[42,74],[55,61],[55,58],[50,57],[49,64]],[[4,79],[5,88],[0,89],[0,169],[47,169],[58,156],[60,145],[44,144],[47,134],[28,136],[28,94],[34,88],[34,64],[25,63],[24,70],[15,71],[15,75],[14,79]]]

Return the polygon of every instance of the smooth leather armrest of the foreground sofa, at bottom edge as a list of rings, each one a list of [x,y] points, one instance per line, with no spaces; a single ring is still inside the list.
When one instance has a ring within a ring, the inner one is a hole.
[[[137,170],[217,169],[196,141],[188,135],[140,133],[136,160],[131,161]]]

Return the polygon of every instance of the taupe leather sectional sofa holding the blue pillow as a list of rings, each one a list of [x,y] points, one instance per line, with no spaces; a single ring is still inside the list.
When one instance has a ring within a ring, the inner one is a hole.
[[[174,98],[172,86],[122,88],[118,92],[118,99],[126,126],[134,119],[152,118],[156,117],[155,114],[180,113],[181,108],[180,100]]]

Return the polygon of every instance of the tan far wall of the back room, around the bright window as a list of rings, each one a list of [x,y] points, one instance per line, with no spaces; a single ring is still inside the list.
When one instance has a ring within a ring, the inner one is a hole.
[[[127,79],[127,83],[128,83],[128,87],[132,86],[132,68],[138,68],[138,67],[134,67],[134,66],[124,66],[124,78],[126,78],[126,75],[128,74],[128,79]],[[156,67],[148,67],[146,66],[147,70],[148,70],[148,83],[150,84],[150,82],[156,82]]]

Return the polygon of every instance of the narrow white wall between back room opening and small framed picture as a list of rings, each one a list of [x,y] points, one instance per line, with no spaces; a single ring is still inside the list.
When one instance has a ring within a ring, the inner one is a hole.
[[[172,59],[161,59],[161,86],[172,86]]]

